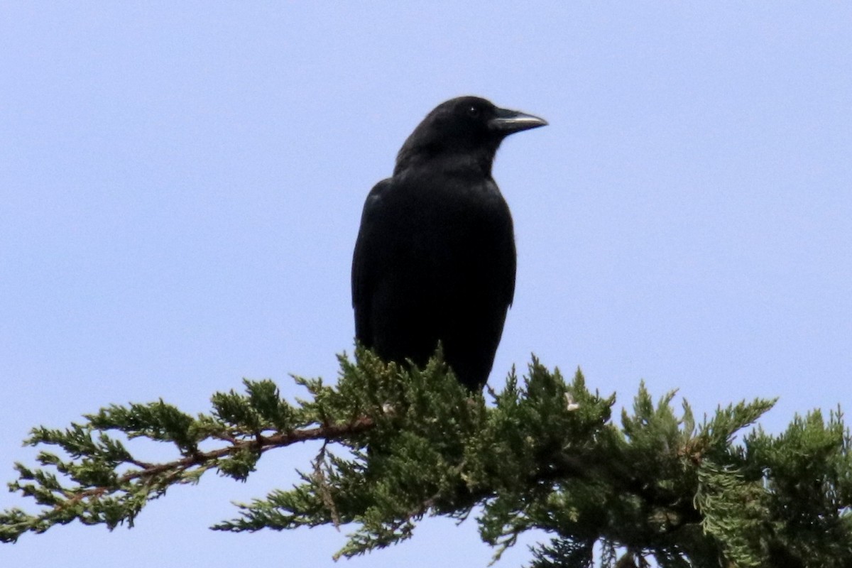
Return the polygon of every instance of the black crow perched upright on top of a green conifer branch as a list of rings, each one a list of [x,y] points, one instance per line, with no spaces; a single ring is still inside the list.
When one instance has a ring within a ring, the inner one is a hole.
[[[464,96],[441,103],[366,198],[352,261],[355,338],[423,365],[438,341],[471,390],[485,386],[515,295],[515,234],[491,176],[503,139],[547,122]]]

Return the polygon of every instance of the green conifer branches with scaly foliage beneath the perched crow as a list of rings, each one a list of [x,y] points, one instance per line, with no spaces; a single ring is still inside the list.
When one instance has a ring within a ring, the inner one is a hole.
[[[73,520],[132,525],[173,485],[211,469],[245,479],[265,452],[316,440],[301,484],[239,505],[214,528],[346,526],[337,556],[353,556],[412,537],[424,516],[473,514],[495,559],[522,532],[548,531],[533,568],[588,568],[595,549],[607,568],[650,558],[665,568],[852,566],[852,442],[839,410],[796,416],[777,436],[744,433],[773,400],[697,422],[685,401],[673,409],[674,392],[655,402],[642,385],[616,425],[614,395],[536,359],[521,382],[513,371],[492,392],[493,404],[459,386],[440,353],[423,370],[360,351],[340,363],[334,387],[296,377],[309,396],[295,403],[271,381],[245,381],[245,393],[216,393],[199,416],[161,400],[34,428],[28,444],[60,451],[42,450],[40,468],[16,465],[10,489],[41,510],[0,513],[0,540]],[[133,439],[178,456],[143,459]]]

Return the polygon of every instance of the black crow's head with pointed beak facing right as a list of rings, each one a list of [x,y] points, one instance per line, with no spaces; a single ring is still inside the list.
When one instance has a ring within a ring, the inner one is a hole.
[[[544,126],[544,118],[463,96],[436,106],[400,148],[394,175],[415,164],[445,159],[459,166],[476,164],[491,174],[500,142],[515,132]]]

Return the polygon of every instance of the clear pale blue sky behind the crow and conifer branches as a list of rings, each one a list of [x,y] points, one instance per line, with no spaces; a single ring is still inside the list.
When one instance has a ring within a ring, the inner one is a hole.
[[[467,94],[550,121],[494,169],[518,276],[493,387],[534,352],[619,404],[644,379],[699,416],[779,396],[774,432],[849,409],[850,30],[849,3],[4,2],[0,481],[33,462],[33,426],[334,377],[366,193]],[[331,566],[331,528],[207,529],[315,450],[175,488],[131,531],[25,535],[0,565]],[[427,519],[337,565],[491,552],[475,523]]]

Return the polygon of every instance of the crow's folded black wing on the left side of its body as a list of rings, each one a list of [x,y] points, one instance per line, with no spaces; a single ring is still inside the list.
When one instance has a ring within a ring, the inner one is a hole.
[[[370,302],[377,278],[383,244],[379,242],[385,195],[392,186],[390,179],[379,181],[367,195],[355,251],[352,257],[352,307],[355,310],[355,338],[372,347]]]

